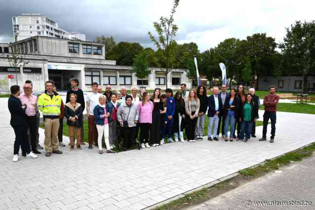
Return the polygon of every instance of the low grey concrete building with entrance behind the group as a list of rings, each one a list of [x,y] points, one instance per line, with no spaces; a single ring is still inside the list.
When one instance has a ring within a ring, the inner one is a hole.
[[[164,69],[151,68],[151,74],[138,79],[131,73],[130,66],[117,66],[116,61],[105,60],[105,46],[102,43],[91,41],[60,39],[46,36],[33,36],[13,43],[0,44],[1,49],[9,52],[0,53],[0,92],[8,92],[8,87],[13,84],[23,85],[30,79],[34,82],[35,91],[44,90],[44,82],[54,80],[59,90],[70,88],[69,79],[79,79],[79,87],[83,91],[91,91],[91,84],[97,82],[103,86],[110,84],[114,90],[121,86],[143,86],[146,89],[168,87],[180,89],[181,83],[186,83],[188,88],[191,82],[186,76],[186,70],[172,70],[165,76]],[[10,68],[6,55],[15,51],[29,61],[24,68],[17,71]],[[14,77],[7,79],[9,77]],[[1,78],[7,85],[1,86]]]

